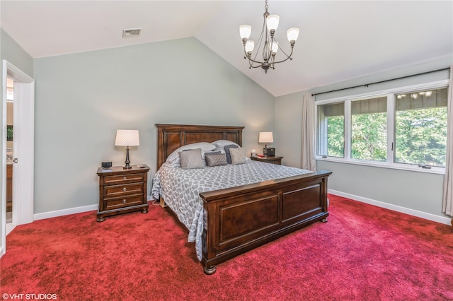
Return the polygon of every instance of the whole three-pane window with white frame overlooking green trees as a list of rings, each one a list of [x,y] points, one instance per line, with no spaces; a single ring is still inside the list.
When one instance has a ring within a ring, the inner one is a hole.
[[[316,102],[325,160],[444,172],[447,81]]]

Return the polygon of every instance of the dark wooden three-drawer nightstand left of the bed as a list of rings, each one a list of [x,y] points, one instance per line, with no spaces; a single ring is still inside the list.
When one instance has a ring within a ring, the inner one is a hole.
[[[132,165],[125,170],[122,166],[109,169],[98,168],[99,208],[96,220],[102,222],[106,216],[115,216],[132,211],[148,212],[147,182],[149,167]]]

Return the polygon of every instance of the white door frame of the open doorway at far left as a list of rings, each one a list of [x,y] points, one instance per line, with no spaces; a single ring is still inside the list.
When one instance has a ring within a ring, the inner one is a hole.
[[[13,225],[34,220],[35,80],[16,66],[2,61],[1,237],[0,256],[6,252],[6,78],[14,81],[13,105]],[[21,189],[19,189],[21,187]]]

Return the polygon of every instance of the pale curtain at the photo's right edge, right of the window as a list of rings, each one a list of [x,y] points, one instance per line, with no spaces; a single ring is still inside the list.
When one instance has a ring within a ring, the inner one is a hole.
[[[442,198],[442,212],[453,216],[453,65],[450,66],[450,82],[448,86],[447,102],[447,153],[445,154],[444,193]],[[453,220],[452,220],[453,225]]]

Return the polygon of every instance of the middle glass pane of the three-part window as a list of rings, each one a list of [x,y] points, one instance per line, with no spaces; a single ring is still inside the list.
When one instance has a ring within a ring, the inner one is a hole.
[[[351,158],[387,160],[387,98],[351,102]]]

